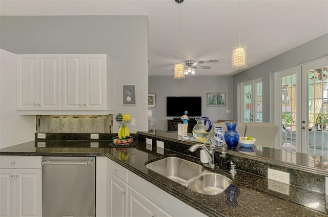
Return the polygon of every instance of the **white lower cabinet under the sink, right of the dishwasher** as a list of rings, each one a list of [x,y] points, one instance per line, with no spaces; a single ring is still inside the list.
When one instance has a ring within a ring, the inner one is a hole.
[[[107,216],[206,216],[110,159],[106,189]]]

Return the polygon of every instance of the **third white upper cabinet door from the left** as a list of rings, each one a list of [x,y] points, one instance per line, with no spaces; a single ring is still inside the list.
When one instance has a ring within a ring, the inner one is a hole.
[[[61,55],[61,110],[83,110],[83,54]]]

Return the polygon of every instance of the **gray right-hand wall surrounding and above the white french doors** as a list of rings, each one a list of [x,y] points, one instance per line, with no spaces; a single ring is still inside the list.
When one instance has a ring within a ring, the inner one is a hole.
[[[263,122],[272,122],[270,115],[270,73],[277,72],[279,70],[297,66],[299,64],[309,62],[311,60],[318,59],[320,57],[327,56],[328,53],[328,34],[315,38],[299,47],[296,47],[290,51],[282,53],[274,58],[271,58],[265,62],[258,64],[255,67],[242,71],[233,77],[233,117],[234,120],[238,119],[238,98],[237,89],[240,82],[250,80],[262,76],[263,86]]]

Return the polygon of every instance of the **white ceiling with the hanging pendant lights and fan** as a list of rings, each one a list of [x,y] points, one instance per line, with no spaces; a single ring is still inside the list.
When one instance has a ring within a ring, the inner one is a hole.
[[[172,75],[180,59],[219,60],[203,63],[195,75],[234,75],[231,51],[248,48],[253,67],[278,54],[328,33],[328,0],[0,0],[1,15],[147,15],[149,19],[149,75]],[[328,48],[327,48],[328,49]]]

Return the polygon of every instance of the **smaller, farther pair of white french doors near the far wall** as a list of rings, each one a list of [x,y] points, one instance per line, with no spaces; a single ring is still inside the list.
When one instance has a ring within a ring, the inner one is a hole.
[[[244,81],[240,87],[242,122],[262,122],[262,78]]]

